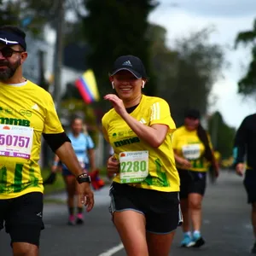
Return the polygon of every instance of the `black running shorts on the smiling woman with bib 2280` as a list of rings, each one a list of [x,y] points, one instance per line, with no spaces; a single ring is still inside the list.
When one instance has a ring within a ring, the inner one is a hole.
[[[168,234],[182,224],[178,192],[139,189],[127,184],[113,183],[110,188],[110,212],[132,210],[146,218],[146,230]]]

